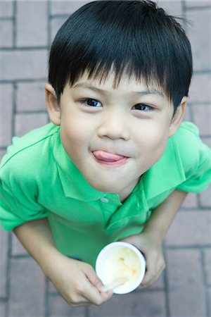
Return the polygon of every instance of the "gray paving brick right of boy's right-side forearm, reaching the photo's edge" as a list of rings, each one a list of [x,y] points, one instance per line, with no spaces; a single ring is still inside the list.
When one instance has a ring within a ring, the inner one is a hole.
[[[167,247],[203,246],[211,243],[211,213],[179,211],[166,237]]]

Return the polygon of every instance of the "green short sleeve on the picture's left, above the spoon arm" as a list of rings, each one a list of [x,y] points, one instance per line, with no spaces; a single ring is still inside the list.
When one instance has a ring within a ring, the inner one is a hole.
[[[37,202],[36,183],[25,174],[17,166],[11,168],[11,164],[0,170],[0,224],[4,230],[48,216]]]

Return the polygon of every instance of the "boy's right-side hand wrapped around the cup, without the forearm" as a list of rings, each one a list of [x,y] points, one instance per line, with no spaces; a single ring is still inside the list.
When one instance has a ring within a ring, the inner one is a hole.
[[[141,282],[143,288],[152,286],[165,269],[165,259],[162,252],[162,241],[149,233],[132,235],[123,240],[140,249],[146,258],[146,274]]]

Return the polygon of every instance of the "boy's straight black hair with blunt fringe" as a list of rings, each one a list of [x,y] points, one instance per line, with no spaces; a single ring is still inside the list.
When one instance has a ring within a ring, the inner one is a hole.
[[[191,44],[177,20],[153,1],[94,1],[60,27],[49,55],[49,82],[58,101],[67,82],[85,71],[101,80],[123,73],[155,83],[174,104],[188,96],[193,73]]]

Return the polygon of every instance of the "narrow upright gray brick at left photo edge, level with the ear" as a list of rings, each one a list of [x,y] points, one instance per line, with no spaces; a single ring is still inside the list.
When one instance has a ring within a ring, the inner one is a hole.
[[[1,72],[0,72],[1,73]],[[0,147],[11,143],[13,118],[13,85],[0,85]]]

